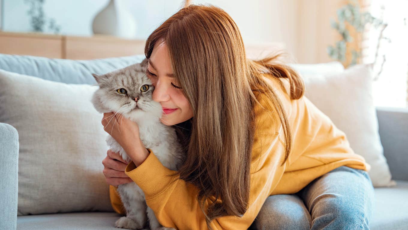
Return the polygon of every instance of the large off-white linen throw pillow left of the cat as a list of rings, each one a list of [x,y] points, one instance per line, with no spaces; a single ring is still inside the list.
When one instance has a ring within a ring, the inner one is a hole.
[[[90,102],[98,86],[0,70],[0,122],[19,135],[18,215],[109,211],[108,135]]]

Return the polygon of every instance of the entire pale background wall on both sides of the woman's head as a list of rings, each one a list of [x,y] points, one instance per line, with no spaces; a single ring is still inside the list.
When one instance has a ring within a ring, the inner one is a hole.
[[[137,37],[145,39],[166,18],[184,5],[183,0],[121,0],[138,23]],[[91,36],[92,20],[109,0],[46,0],[44,12],[55,18],[62,34]],[[326,46],[334,44],[330,28],[339,2],[344,0],[193,0],[221,7],[237,23],[245,43],[278,42],[299,63],[330,61]],[[24,0],[4,0],[4,31],[29,32]]]

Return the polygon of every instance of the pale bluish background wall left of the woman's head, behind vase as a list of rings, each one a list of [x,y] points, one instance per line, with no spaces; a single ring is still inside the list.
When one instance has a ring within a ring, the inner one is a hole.
[[[138,38],[146,38],[160,22],[173,14],[181,1],[121,0],[138,22]],[[92,20],[109,0],[46,0],[44,13],[55,18],[61,34],[90,36]],[[4,31],[29,32],[29,6],[24,0],[4,0]],[[47,32],[47,31],[46,31]],[[48,31],[51,32],[51,31]]]

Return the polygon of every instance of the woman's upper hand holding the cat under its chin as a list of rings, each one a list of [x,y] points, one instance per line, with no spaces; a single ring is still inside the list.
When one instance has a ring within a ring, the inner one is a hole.
[[[135,140],[139,139],[139,126],[120,113],[104,113],[102,118],[104,131],[109,133],[123,149],[135,147]],[[127,152],[126,152],[127,153]]]

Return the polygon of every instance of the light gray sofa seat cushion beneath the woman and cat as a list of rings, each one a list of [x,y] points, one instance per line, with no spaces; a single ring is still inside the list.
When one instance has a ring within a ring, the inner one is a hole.
[[[408,181],[397,180],[396,187],[375,188],[374,215],[371,230],[408,229]],[[18,230],[114,230],[120,217],[116,212],[80,212],[18,216]]]

